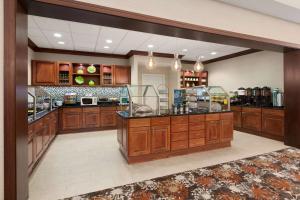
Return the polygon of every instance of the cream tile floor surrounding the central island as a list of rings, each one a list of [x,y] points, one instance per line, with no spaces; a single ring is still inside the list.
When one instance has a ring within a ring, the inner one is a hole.
[[[128,165],[116,131],[59,135],[30,178],[30,200],[57,200],[285,148],[235,132],[232,147]]]

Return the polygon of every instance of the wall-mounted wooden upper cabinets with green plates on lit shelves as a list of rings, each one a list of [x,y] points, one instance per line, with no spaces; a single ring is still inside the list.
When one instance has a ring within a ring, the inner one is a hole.
[[[95,72],[89,72],[89,66]],[[76,77],[83,77],[82,83]],[[64,61],[32,61],[32,85],[120,86],[130,84],[130,66],[71,63]]]

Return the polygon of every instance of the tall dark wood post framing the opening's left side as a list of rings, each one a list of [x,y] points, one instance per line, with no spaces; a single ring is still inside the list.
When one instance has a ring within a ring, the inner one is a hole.
[[[27,15],[4,0],[4,199],[28,197]]]

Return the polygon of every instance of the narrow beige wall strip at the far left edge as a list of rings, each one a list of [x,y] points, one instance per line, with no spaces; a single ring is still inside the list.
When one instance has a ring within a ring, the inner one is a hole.
[[[4,199],[4,147],[3,147],[3,137],[4,137],[4,123],[3,123],[3,115],[4,115],[4,104],[3,104],[3,32],[4,32],[4,24],[3,24],[3,0],[0,0],[0,199]]]

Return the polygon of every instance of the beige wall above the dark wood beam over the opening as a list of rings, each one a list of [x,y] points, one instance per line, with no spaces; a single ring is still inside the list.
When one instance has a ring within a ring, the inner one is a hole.
[[[300,44],[300,25],[214,0],[78,0]]]

